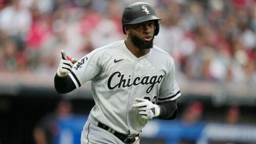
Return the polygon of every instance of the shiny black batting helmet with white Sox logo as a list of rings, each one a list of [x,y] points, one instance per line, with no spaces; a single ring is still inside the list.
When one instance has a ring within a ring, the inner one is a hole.
[[[155,20],[155,35],[159,32],[159,22],[160,18],[156,17],[155,10],[147,3],[144,2],[136,2],[130,4],[123,10],[122,15],[122,27],[123,33],[124,25],[133,25],[137,23],[141,23],[148,20]]]

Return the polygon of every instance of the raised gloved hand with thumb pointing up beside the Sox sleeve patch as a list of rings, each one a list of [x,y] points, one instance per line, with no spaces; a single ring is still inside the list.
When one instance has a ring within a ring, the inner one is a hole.
[[[74,66],[74,63],[77,62],[77,59],[70,58],[66,55],[64,50],[61,50],[61,60],[59,62],[59,67],[57,70],[57,75],[59,77],[65,77],[72,71],[72,67]]]

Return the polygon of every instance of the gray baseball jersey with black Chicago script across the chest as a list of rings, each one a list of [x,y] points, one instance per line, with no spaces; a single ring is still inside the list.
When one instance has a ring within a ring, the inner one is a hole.
[[[92,81],[95,106],[90,115],[124,134],[137,134],[147,123],[132,107],[135,98],[157,104],[180,96],[174,59],[155,45],[139,58],[124,40],[105,45],[75,63],[69,76],[76,88]]]

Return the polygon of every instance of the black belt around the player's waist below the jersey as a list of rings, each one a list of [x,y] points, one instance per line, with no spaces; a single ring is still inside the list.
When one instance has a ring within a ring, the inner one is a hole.
[[[139,138],[139,135],[138,134],[133,134],[131,136],[128,136],[126,134],[122,134],[122,133],[119,133],[119,132],[116,132],[115,130],[111,129],[110,127],[102,124],[102,123],[98,123],[98,127],[106,130],[106,131],[109,131],[111,132],[112,134],[114,134],[116,137],[118,137],[120,140],[122,140],[124,143],[133,143],[136,138],[135,137],[138,137]]]

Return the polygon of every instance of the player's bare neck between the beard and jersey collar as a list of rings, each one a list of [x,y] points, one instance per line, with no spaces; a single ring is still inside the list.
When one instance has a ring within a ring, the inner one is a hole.
[[[142,57],[144,55],[146,55],[148,52],[150,52],[150,49],[139,49],[138,47],[136,47],[133,42],[131,40],[125,40],[124,41],[127,49],[137,58]]]

